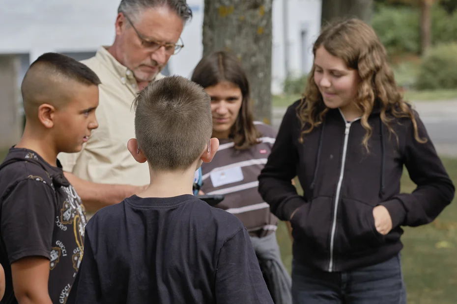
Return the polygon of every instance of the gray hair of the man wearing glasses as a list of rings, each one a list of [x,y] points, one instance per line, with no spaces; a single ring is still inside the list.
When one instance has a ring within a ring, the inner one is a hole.
[[[145,9],[161,6],[168,6],[184,23],[192,19],[192,10],[186,0],[121,0],[117,13],[123,13],[129,18],[136,19],[138,14]]]

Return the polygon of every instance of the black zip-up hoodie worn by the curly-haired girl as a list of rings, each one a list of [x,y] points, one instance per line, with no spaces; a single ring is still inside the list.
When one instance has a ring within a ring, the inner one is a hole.
[[[426,128],[414,112],[412,121],[395,118],[389,132],[373,109],[369,152],[362,144],[366,130],[360,119],[347,122],[339,109],[330,109],[324,121],[299,142],[301,123],[296,101],[288,107],[276,142],[262,170],[259,192],[271,211],[293,228],[293,256],[323,271],[352,270],[385,261],[402,249],[401,226],[430,223],[454,198],[449,178]],[[387,117],[394,118],[389,112]],[[403,165],[417,188],[400,193]],[[290,180],[298,176],[304,195]],[[381,235],[372,210],[383,205],[393,228]]]

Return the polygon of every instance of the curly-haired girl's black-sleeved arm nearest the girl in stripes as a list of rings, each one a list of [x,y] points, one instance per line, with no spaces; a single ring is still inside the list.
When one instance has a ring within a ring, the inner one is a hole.
[[[298,163],[298,153],[293,144],[296,120],[295,106],[292,105],[287,109],[268,162],[258,177],[260,195],[270,204],[271,212],[282,221],[289,221],[293,211],[305,203],[291,183]]]

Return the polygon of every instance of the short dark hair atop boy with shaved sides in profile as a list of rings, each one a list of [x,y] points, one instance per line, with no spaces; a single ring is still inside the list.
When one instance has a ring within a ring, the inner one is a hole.
[[[88,85],[99,85],[101,83],[97,74],[95,74],[95,72],[88,66],[63,54],[52,52],[44,53],[33,61],[29,67],[29,71],[32,70],[35,65],[41,64],[46,65],[51,70],[54,70],[53,72],[60,74],[59,76],[66,77],[80,83]],[[26,76],[24,76],[24,78]]]

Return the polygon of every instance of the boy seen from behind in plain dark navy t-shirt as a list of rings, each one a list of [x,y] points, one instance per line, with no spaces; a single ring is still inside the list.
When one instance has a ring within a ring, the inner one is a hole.
[[[192,192],[195,171],[219,147],[209,96],[171,76],[134,105],[128,149],[148,163],[150,184],[89,220],[67,304],[273,304],[241,221]]]

